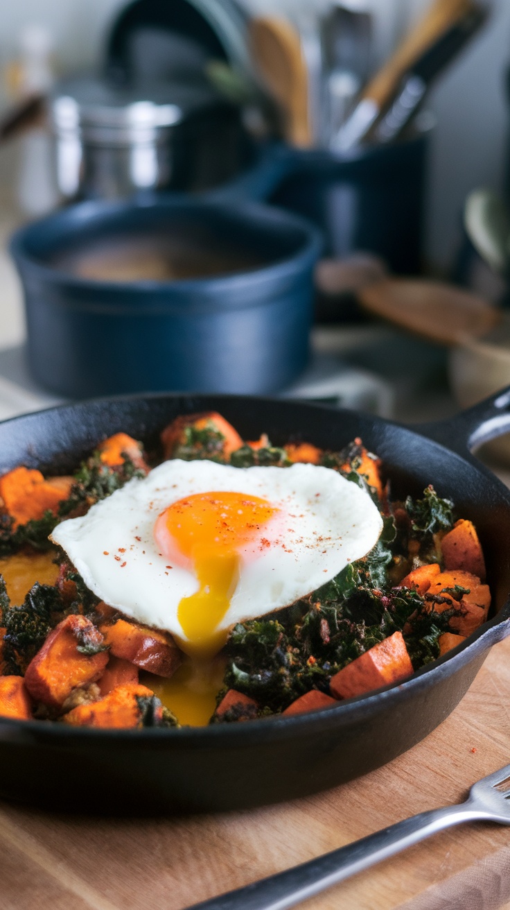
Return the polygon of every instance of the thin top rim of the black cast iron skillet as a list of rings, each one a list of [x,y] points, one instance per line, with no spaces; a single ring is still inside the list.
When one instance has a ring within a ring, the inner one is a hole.
[[[271,396],[235,395],[225,393],[139,392],[135,394],[103,396],[67,402],[51,408],[31,411],[26,414],[8,418],[7,420],[1,420],[0,426],[3,427],[12,423],[19,423],[25,419],[37,418],[55,412],[59,413],[61,411],[82,409],[84,407],[85,409],[88,409],[91,405],[96,406],[103,404],[106,406],[115,406],[117,402],[120,404],[128,404],[131,402],[136,403],[136,401],[150,404],[153,400],[164,399],[177,401],[179,403],[182,403],[184,400],[193,401],[193,399],[200,399],[201,401],[211,399],[215,402],[217,402],[218,399],[221,399],[226,402],[232,400],[246,403],[267,403],[290,408],[290,410],[292,410],[293,406],[299,408],[305,407],[316,413],[322,412],[329,417],[335,415],[339,420],[341,420],[344,415],[348,415],[351,419],[353,417],[362,417],[366,420],[374,421],[377,426],[395,427],[399,430],[405,430],[405,432],[414,437],[426,440],[427,444],[432,444],[437,447],[437,449],[445,451],[449,457],[454,456],[456,459],[467,463],[471,469],[477,470],[485,477],[485,480],[489,480],[494,485],[495,490],[503,495],[507,505],[510,507],[510,490],[505,487],[505,484],[499,480],[498,477],[496,477],[493,471],[486,468],[481,461],[475,458],[471,451],[468,450],[467,443],[465,454],[461,455],[458,450],[449,449],[443,442],[437,441],[433,435],[429,435],[429,432],[432,433],[435,426],[444,426],[447,421],[437,421],[436,424],[426,424],[425,429],[427,432],[421,432],[421,426],[419,424],[416,426],[416,429],[414,429],[413,426],[410,427],[403,423],[399,423],[396,420],[387,420],[373,414],[367,414],[361,410],[340,409],[331,405],[317,404],[309,401],[277,399]],[[460,413],[462,415],[465,412],[461,411]],[[15,737],[5,735],[8,730],[28,734],[37,733],[37,735],[33,737],[34,743],[43,740],[51,740],[53,743],[53,740],[56,737],[63,745],[65,745],[67,741],[72,744],[73,741],[77,739],[78,741],[86,740],[89,743],[94,744],[115,742],[122,745],[122,743],[125,742],[129,743],[130,746],[133,746],[135,743],[139,743],[140,747],[143,747],[144,743],[147,742],[174,742],[182,744],[183,747],[190,744],[195,744],[196,747],[206,747],[208,745],[213,746],[219,737],[220,741],[224,741],[223,745],[225,747],[235,748],[243,746],[245,741],[252,741],[254,739],[254,733],[259,734],[256,736],[256,739],[259,741],[292,739],[295,733],[299,733],[304,728],[309,728],[311,726],[317,728],[324,726],[326,728],[331,725],[332,721],[335,722],[335,719],[339,722],[344,718],[345,723],[348,723],[349,718],[352,715],[355,715],[357,720],[365,721],[365,719],[375,711],[378,704],[390,703],[391,705],[396,699],[406,700],[407,698],[412,698],[415,692],[419,693],[420,691],[427,689],[429,685],[434,686],[435,682],[439,682],[441,679],[447,679],[454,675],[458,669],[457,664],[459,663],[461,654],[473,649],[473,658],[475,659],[477,655],[488,651],[493,644],[504,639],[506,635],[510,635],[510,592],[495,616],[491,620],[483,623],[475,632],[467,637],[465,642],[457,645],[452,652],[446,652],[442,657],[437,658],[437,660],[431,664],[425,664],[425,666],[415,671],[413,675],[404,682],[390,683],[389,685],[375,689],[371,693],[356,695],[354,698],[341,700],[337,705],[331,708],[310,713],[289,715],[286,717],[277,714],[267,718],[256,719],[251,723],[218,723],[204,727],[183,726],[179,728],[144,727],[141,730],[72,727],[65,726],[63,723],[55,723],[55,721],[20,721],[14,718],[0,717],[0,747],[2,743],[8,743],[15,739]],[[439,679],[435,680],[435,676],[439,677]],[[330,723],[327,723],[328,721]]]

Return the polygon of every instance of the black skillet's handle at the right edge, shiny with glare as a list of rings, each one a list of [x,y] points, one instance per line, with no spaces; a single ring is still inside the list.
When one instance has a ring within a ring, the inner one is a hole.
[[[471,452],[510,431],[510,386],[450,420],[421,424],[415,429],[464,457],[466,450]]]

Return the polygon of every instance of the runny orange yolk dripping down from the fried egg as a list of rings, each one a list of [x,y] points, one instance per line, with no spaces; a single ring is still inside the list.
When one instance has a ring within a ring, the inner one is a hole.
[[[256,544],[277,511],[257,496],[206,492],[173,502],[155,522],[165,559],[193,568],[199,584],[177,609],[185,633],[179,644],[192,657],[211,658],[223,647],[227,630],[218,632],[218,626],[239,581],[242,552]]]

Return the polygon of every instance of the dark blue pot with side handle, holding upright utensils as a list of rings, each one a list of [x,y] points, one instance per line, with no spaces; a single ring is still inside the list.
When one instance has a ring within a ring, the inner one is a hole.
[[[366,250],[396,274],[422,269],[425,177],[430,129],[401,142],[366,147],[352,157],[324,149],[259,149],[258,160],[217,192],[265,200],[308,218],[325,254]]]

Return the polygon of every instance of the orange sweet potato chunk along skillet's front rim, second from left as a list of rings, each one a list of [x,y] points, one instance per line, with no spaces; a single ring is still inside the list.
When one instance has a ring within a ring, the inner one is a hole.
[[[62,720],[76,727],[138,727],[142,722],[142,709],[136,699],[153,696],[145,685],[120,685],[98,702],[79,704]],[[155,714],[156,721],[161,720],[161,703],[156,706]]]

